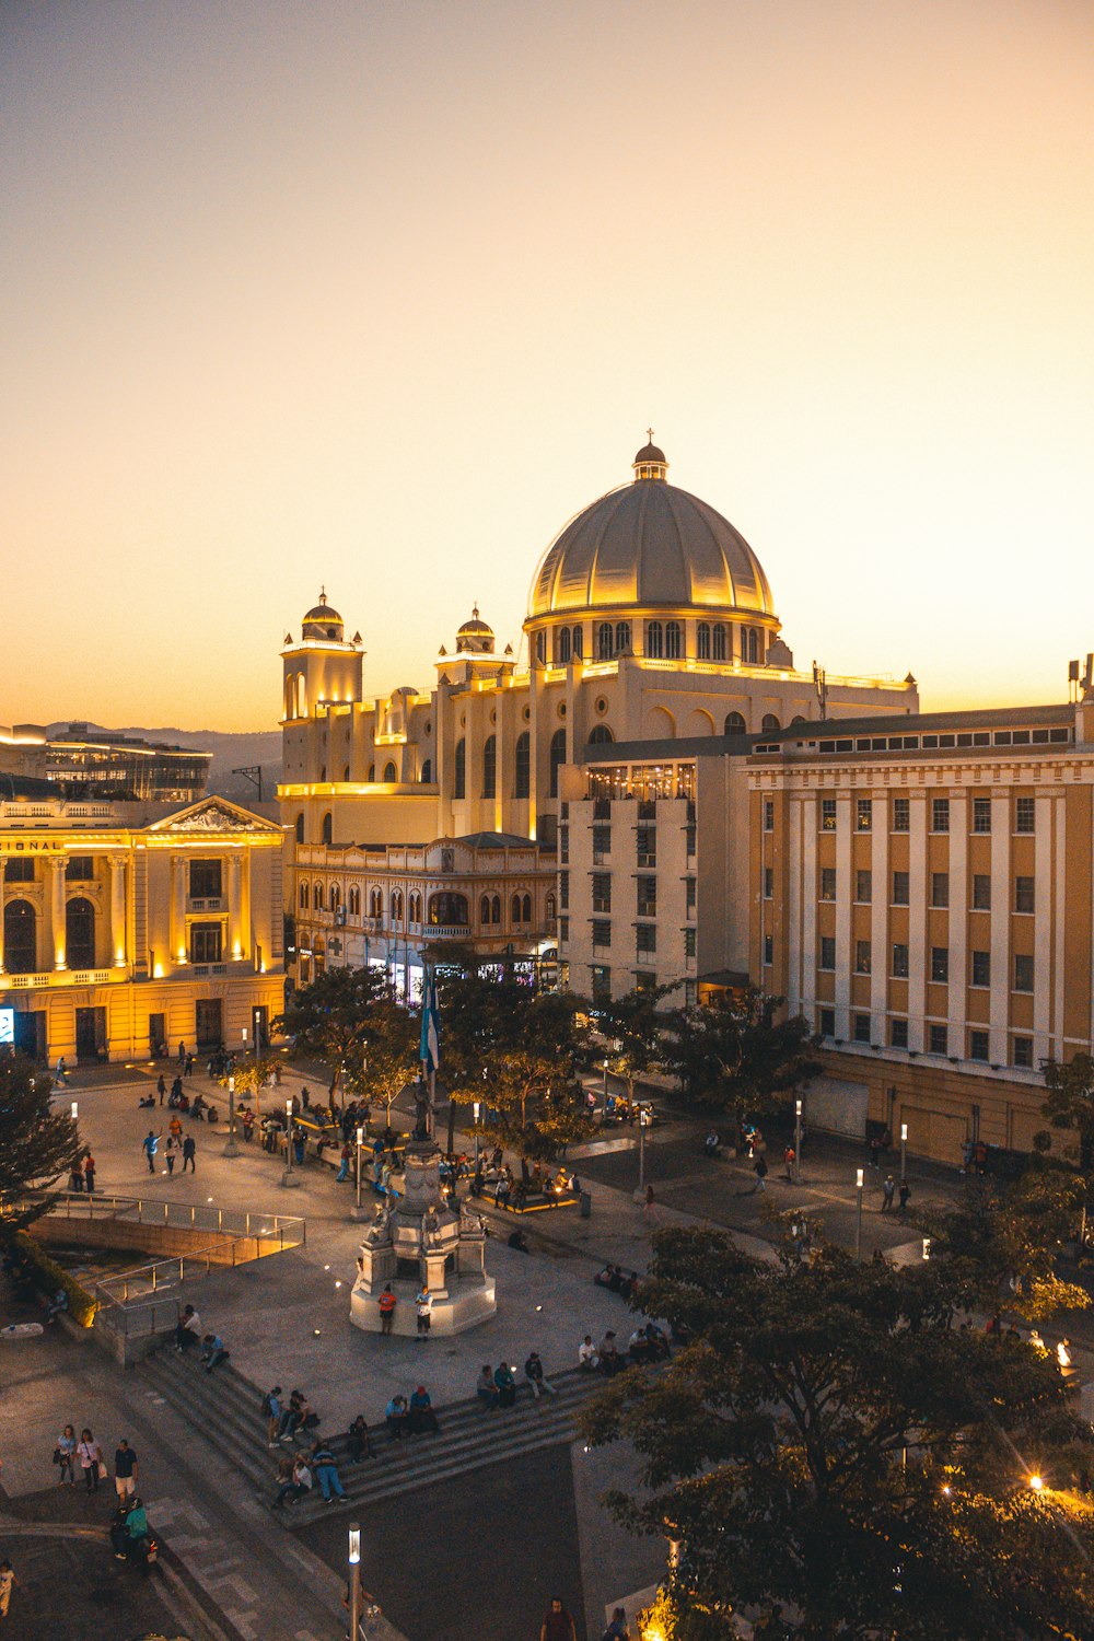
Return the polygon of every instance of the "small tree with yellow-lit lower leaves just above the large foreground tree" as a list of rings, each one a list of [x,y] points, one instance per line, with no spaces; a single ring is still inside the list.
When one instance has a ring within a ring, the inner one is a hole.
[[[1078,1283],[1056,1275],[1073,1236],[1083,1182],[1063,1168],[1032,1163],[1015,1182],[969,1180],[964,1200],[923,1216],[932,1257],[950,1260],[964,1303],[1014,1311],[1027,1323],[1091,1303]]]

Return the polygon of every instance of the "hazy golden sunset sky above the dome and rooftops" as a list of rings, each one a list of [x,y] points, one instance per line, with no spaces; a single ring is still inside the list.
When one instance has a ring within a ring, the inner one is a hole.
[[[669,481],[799,666],[1094,650],[1094,8],[0,0],[0,720],[274,729]]]

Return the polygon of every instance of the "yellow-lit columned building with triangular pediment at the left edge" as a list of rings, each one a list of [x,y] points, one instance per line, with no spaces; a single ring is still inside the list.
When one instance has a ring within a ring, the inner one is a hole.
[[[253,1040],[284,1004],[282,830],[220,798],[66,802],[0,783],[0,1008],[28,1054]]]

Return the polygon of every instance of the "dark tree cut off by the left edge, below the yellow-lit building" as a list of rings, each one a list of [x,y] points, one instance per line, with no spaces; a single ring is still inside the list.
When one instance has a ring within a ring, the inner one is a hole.
[[[49,1211],[49,1188],[71,1173],[82,1155],[67,1113],[49,1109],[49,1078],[21,1054],[0,1050],[0,1237]],[[33,1201],[26,1191],[43,1191]]]

